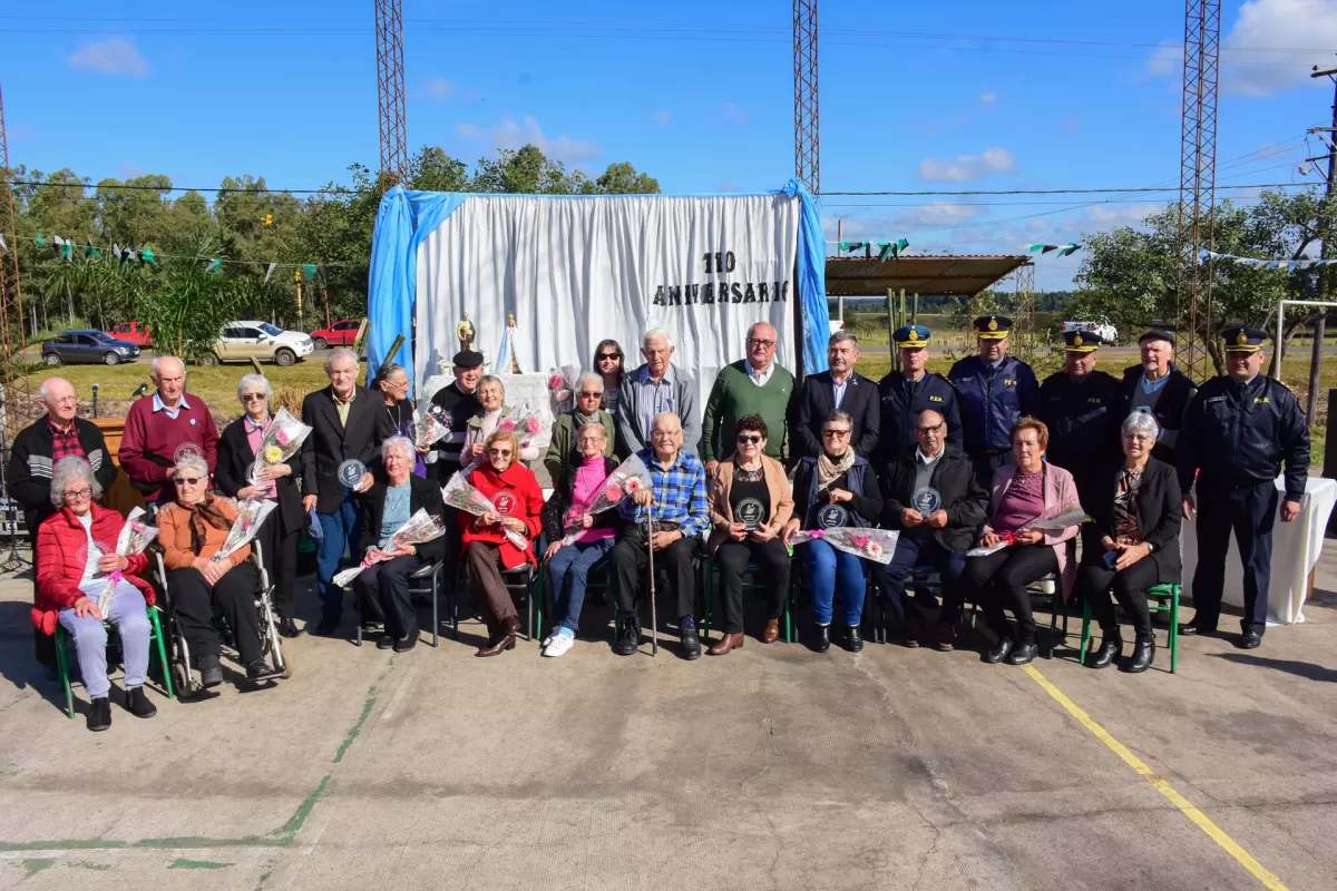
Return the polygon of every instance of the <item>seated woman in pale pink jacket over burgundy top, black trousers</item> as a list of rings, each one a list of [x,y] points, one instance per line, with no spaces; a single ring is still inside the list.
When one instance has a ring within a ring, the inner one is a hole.
[[[997,644],[985,655],[989,663],[1005,659],[1009,665],[1025,665],[1036,656],[1035,617],[1027,585],[1058,573],[1060,596],[1066,598],[1076,578],[1067,552],[1068,540],[1076,537],[1080,526],[1067,526],[1060,532],[1031,528],[1038,520],[1080,508],[1072,474],[1044,460],[1048,445],[1050,429],[1043,422],[1027,417],[1012,425],[1016,466],[993,472],[989,518],[980,536],[984,548],[1011,544],[983,557],[967,557],[961,573],[961,597],[975,600],[984,608],[989,628],[999,636]],[[1015,635],[1008,631],[1004,608],[1009,608],[1016,617]]]

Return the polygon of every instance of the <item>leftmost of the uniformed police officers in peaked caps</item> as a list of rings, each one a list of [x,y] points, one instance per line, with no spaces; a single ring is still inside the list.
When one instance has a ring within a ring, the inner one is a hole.
[[[881,397],[882,430],[877,448],[884,462],[894,462],[913,452],[919,439],[916,418],[924,411],[937,411],[947,422],[947,445],[961,448],[961,415],[956,407],[956,390],[941,374],[925,370],[928,345],[933,333],[923,325],[906,325],[892,334],[900,349],[901,370],[894,369],[877,383]]]

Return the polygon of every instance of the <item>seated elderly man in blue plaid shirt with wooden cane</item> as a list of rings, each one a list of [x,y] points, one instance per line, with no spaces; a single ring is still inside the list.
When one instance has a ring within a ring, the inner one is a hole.
[[[650,469],[654,485],[642,489],[619,506],[628,521],[622,540],[608,552],[608,577],[618,598],[618,640],[612,652],[630,656],[640,645],[640,621],[636,618],[636,594],[640,572],[650,554],[646,548],[646,514],[654,510],[655,562],[668,570],[678,605],[678,631],[682,635],[682,657],[701,657],[697,637],[697,576],[691,558],[699,534],[710,528],[710,504],[706,500],[706,468],[690,452],[682,450],[682,421],[677,414],[656,415],[650,427],[648,449],[636,454]],[[651,508],[652,501],[652,508]]]

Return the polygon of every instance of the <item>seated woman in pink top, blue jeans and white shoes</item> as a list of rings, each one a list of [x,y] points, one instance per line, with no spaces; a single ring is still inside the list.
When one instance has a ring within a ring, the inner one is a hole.
[[[554,478],[556,489],[543,506],[543,532],[548,536],[548,550],[543,558],[548,566],[556,624],[552,633],[543,639],[541,651],[554,659],[575,643],[590,570],[612,550],[618,526],[622,525],[616,510],[590,513],[603,492],[603,481],[618,466],[616,458],[607,457],[608,431],[598,421],[587,422],[576,431],[576,443],[580,448],[579,460],[568,457],[570,466]],[[570,545],[563,545],[567,526],[575,524],[584,532]]]

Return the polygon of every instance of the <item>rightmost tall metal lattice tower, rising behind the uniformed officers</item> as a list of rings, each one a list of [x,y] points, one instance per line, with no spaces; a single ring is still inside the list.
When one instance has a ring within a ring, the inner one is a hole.
[[[1179,156],[1179,251],[1175,339],[1185,374],[1211,374],[1211,259],[1217,203],[1217,72],[1221,0],[1186,0],[1183,23],[1183,144]]]

